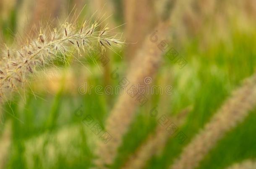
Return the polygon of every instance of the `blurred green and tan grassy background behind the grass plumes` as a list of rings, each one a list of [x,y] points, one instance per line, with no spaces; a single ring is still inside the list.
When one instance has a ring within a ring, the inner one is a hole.
[[[81,93],[78,88],[85,82],[118,86],[129,68],[141,66],[133,59],[136,53],[144,52],[144,41],[159,20],[170,18],[168,49],[175,49],[187,64],[180,68],[165,50],[152,85],[171,85],[172,94],[151,93],[143,106],[137,106],[111,169],[124,166],[154,132],[158,119],[150,113],[156,107],[159,114],[185,116],[177,125],[187,139],[180,143],[170,136],[144,165],[146,169],[168,168],[230,93],[255,73],[255,0],[0,0],[1,46],[15,45],[19,37],[37,37],[40,24],[50,20],[57,26],[70,13],[77,16],[80,11],[78,20],[93,14],[106,18],[103,24],[118,27],[115,31],[123,32],[127,44],[116,53],[107,50],[110,61],[105,66],[89,59],[94,53],[85,54],[83,64],[72,58],[68,64],[56,61],[56,67],[34,76],[24,93],[6,101],[0,115],[0,168],[93,166],[99,137],[83,119],[90,115],[104,128],[119,94]],[[120,78],[112,78],[114,72]],[[255,112],[225,134],[198,168],[222,169],[236,161],[256,158]]]

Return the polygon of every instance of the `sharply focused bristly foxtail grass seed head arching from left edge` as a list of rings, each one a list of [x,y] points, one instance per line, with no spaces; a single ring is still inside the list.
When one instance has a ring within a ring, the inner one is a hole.
[[[66,61],[65,55],[73,49],[81,56],[81,50],[89,53],[92,48],[99,48],[104,52],[106,48],[120,47],[124,43],[120,41],[121,34],[107,30],[96,21],[78,26],[65,22],[60,28],[41,27],[37,38],[27,40],[20,48],[5,45],[0,61],[0,101],[10,99],[13,91],[24,87],[29,75],[56,58]]]

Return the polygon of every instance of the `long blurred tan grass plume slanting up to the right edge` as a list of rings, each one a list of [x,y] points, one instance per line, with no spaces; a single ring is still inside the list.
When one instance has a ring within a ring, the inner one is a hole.
[[[185,146],[170,169],[194,169],[227,131],[242,122],[256,105],[256,75],[232,93],[204,129]]]

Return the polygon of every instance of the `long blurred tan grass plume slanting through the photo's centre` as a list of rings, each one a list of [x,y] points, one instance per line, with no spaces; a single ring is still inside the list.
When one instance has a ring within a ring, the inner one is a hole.
[[[164,40],[167,37],[168,28],[169,22],[160,23],[155,28],[159,31],[159,40]],[[134,65],[132,64],[126,76],[130,84],[147,86],[144,83],[144,78],[152,77],[162,60],[162,51],[159,50],[157,45],[157,43],[154,43],[149,38],[146,39],[143,48],[133,62]],[[135,66],[138,64],[140,66]],[[136,101],[135,97],[133,98],[124,92],[122,93],[105,124],[105,129],[112,136],[112,139],[107,144],[100,144],[96,152],[98,159],[95,161],[95,164],[98,168],[104,168],[113,163],[118,147],[122,143],[122,137],[128,131],[135,115],[138,101]]]

